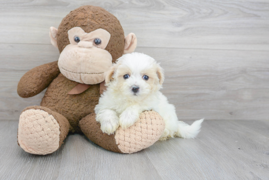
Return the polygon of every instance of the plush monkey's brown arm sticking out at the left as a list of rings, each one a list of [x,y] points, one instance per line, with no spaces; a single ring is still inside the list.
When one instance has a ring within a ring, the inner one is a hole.
[[[17,92],[21,97],[35,96],[45,90],[59,74],[58,61],[34,67],[22,76]]]

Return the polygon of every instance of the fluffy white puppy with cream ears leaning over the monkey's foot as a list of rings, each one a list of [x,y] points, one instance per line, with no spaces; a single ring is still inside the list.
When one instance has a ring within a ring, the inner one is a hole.
[[[107,90],[95,107],[96,121],[104,133],[112,134],[121,126],[132,126],[143,111],[154,110],[165,121],[164,140],[179,136],[194,138],[203,119],[191,126],[178,120],[175,106],[159,91],[164,80],[163,69],[150,56],[142,53],[123,55],[106,73]]]

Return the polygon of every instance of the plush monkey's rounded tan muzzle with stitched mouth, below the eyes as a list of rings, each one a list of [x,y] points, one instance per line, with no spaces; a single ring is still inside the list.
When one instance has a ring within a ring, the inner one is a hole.
[[[101,48],[67,45],[61,53],[58,66],[68,79],[83,84],[98,84],[112,66],[111,54]]]

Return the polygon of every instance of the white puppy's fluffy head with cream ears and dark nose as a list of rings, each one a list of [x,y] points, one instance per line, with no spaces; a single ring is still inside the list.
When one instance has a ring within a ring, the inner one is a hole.
[[[163,69],[155,59],[137,52],[123,55],[106,73],[106,84],[130,98],[158,91],[163,80]]]

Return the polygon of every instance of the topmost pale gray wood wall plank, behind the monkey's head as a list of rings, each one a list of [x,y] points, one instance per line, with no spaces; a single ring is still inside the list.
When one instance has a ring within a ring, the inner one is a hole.
[[[81,5],[114,14],[140,47],[269,50],[268,0],[3,0],[0,43],[50,44],[49,27]]]

